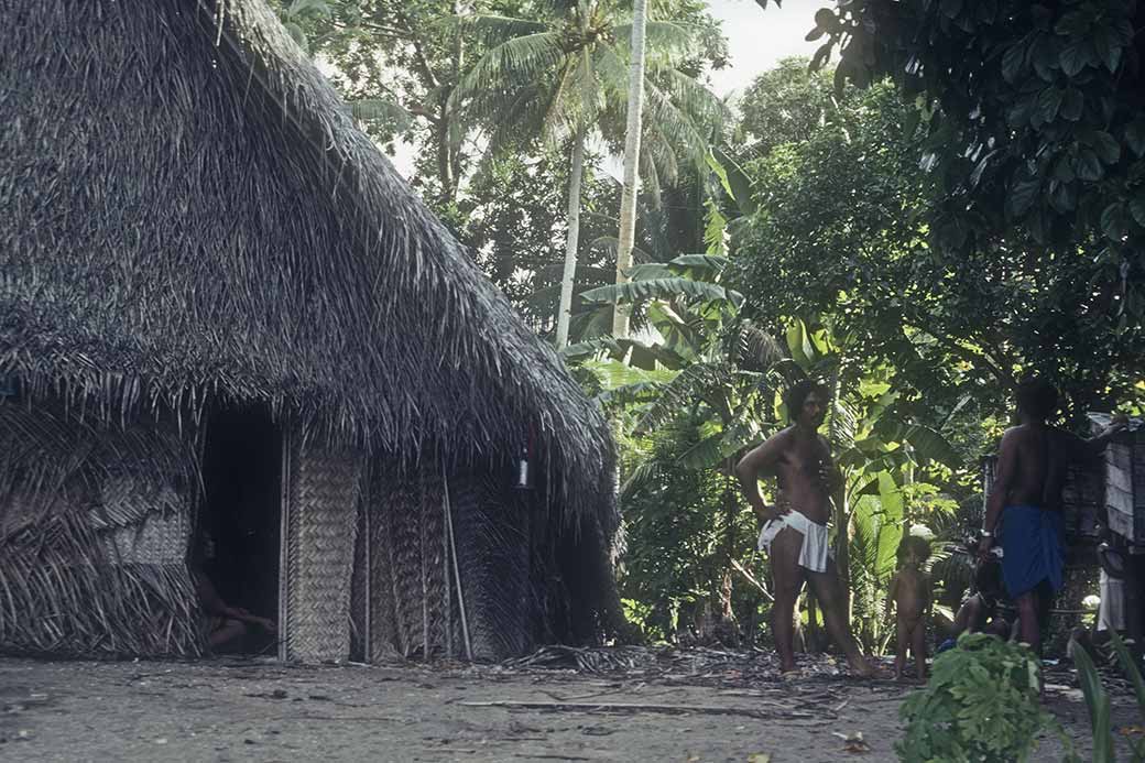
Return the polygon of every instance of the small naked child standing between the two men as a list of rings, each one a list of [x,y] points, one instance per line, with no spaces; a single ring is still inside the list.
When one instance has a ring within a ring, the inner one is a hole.
[[[931,582],[930,575],[923,572],[923,564],[930,558],[930,543],[917,535],[908,535],[899,543],[898,557],[899,571],[891,579],[891,590],[886,593],[886,616],[890,619],[893,604],[897,620],[894,677],[902,678],[909,647],[918,681],[926,681],[926,618],[931,609]]]

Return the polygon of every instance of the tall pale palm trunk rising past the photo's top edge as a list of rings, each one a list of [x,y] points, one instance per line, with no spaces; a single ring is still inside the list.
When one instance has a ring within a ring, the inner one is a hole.
[[[632,3],[632,63],[629,68],[629,115],[624,136],[624,191],[621,196],[621,231],[616,247],[616,283],[629,281],[632,268],[632,246],[637,229],[637,170],[640,164],[640,127],[643,116],[643,49],[646,0]],[[629,336],[632,306],[619,304],[613,308],[613,336]]]

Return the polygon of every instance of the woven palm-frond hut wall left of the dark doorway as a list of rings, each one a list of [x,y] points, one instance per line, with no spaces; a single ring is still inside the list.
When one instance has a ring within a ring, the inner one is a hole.
[[[184,563],[187,490],[198,481],[190,446],[153,425],[98,427],[0,402],[0,475],[6,651],[199,652]],[[166,526],[174,532],[153,530]]]

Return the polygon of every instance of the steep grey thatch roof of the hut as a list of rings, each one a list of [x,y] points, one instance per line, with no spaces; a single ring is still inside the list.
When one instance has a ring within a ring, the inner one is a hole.
[[[611,530],[600,411],[261,0],[6,16],[0,373],[108,418],[266,401],[405,454],[531,431]]]

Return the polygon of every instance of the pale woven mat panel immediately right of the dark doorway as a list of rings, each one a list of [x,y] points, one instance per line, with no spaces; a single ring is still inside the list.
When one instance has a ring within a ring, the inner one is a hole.
[[[364,458],[291,438],[286,512],[285,656],[346,660],[350,577]]]

